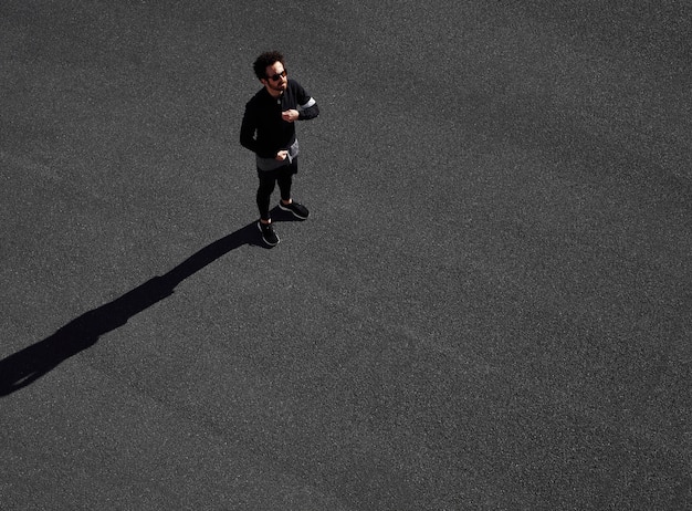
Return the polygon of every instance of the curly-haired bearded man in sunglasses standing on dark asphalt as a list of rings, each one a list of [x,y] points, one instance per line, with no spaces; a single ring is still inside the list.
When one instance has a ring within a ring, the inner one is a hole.
[[[298,171],[298,143],[295,122],[315,118],[315,100],[294,80],[289,80],[283,55],[262,53],[254,61],[254,73],[263,87],[248,102],[240,128],[240,144],[255,154],[260,186],[256,201],[258,227],[269,246],[279,243],[272,227],[270,200],[279,184],[279,207],[305,220],[310,212],[291,197],[293,175]]]

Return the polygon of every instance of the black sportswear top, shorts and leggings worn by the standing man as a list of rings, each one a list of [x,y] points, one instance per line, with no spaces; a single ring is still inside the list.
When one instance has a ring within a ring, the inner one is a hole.
[[[293,175],[297,173],[298,144],[295,137],[295,123],[281,118],[287,109],[298,111],[298,121],[319,115],[319,107],[307,92],[294,80],[289,80],[286,90],[273,97],[262,87],[245,105],[240,127],[240,144],[255,154],[260,186],[258,208],[260,218],[269,220],[269,206],[274,187],[279,184],[281,198],[291,198]],[[287,150],[289,157],[276,161],[280,150]]]

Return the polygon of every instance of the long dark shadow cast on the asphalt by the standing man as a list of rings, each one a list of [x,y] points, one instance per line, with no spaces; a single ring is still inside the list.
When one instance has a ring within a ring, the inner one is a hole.
[[[289,220],[281,215],[274,218]],[[93,346],[103,334],[123,326],[130,317],[170,296],[185,279],[243,244],[266,248],[256,221],[208,244],[168,273],[82,314],[43,341],[3,358],[0,361],[0,396],[8,396],[32,384],[71,356]]]

